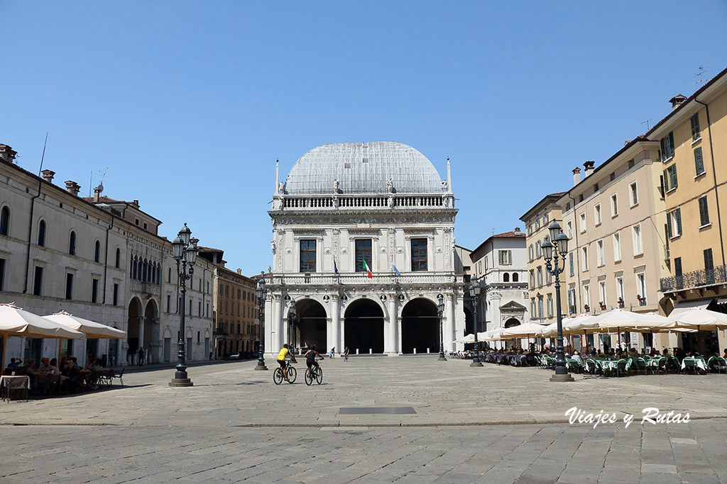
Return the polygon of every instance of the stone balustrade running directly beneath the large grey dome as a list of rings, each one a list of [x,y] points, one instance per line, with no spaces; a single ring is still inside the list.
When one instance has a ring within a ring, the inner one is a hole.
[[[391,208],[449,208],[454,205],[451,194],[381,194],[381,195],[356,195],[356,194],[332,194],[321,197],[311,196],[281,196],[283,209],[308,209],[308,208],[366,208],[372,210],[385,210]]]

